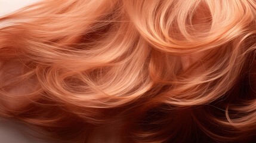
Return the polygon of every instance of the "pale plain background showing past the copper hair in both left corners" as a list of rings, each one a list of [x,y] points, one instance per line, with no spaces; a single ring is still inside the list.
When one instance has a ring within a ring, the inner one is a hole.
[[[12,13],[26,5],[33,4],[39,0],[0,0],[0,17]],[[1,98],[1,97],[0,97]],[[41,143],[36,139],[28,138],[22,133],[27,130],[20,127],[18,123],[0,120],[0,142],[1,143]],[[20,129],[21,128],[21,129]]]

